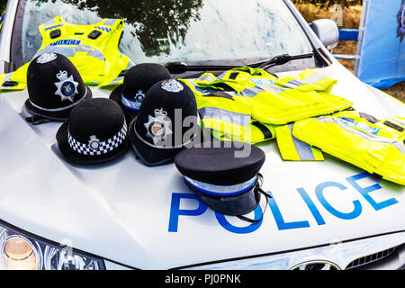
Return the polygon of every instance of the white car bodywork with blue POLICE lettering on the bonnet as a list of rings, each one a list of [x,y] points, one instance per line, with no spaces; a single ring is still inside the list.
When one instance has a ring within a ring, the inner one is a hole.
[[[6,54],[2,42],[0,63]],[[405,115],[403,103],[365,85],[336,59],[317,71],[338,79],[332,93],[358,111],[381,119]],[[92,91],[94,97],[111,93]],[[24,121],[27,97],[26,90],[0,94],[0,219],[102,257],[107,268],[289,269],[321,260],[344,269],[405,243],[405,187],[335,157],[285,162],[275,140],[260,144],[263,188],[274,198],[263,221],[250,224],[207,209],[174,164],[143,166],[131,150],[101,166],[67,164],[55,139],[61,123]],[[400,252],[394,268],[405,263]]]

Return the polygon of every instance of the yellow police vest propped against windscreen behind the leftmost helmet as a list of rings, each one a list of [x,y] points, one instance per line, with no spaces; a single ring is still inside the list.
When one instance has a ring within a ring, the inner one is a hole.
[[[74,25],[57,16],[39,26],[42,44],[33,58],[49,52],[62,54],[76,66],[86,85],[108,85],[130,63],[130,58],[118,50],[123,24],[121,19],[103,19],[91,25]],[[1,75],[0,89],[24,89],[29,65]]]

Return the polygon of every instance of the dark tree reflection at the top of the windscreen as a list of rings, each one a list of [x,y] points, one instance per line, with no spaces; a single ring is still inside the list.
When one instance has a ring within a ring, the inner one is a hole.
[[[2,1],[2,0],[0,0]],[[37,0],[48,3],[56,0]],[[202,0],[61,0],[80,10],[90,10],[101,18],[121,18],[131,24],[148,57],[170,53],[184,42],[190,22],[200,20]]]

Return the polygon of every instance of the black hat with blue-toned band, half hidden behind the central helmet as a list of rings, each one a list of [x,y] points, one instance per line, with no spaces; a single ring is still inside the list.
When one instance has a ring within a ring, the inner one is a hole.
[[[125,73],[123,84],[116,87],[110,99],[121,105],[122,111],[130,122],[139,112],[149,88],[160,80],[170,79],[166,67],[155,63],[142,63],[131,67]]]

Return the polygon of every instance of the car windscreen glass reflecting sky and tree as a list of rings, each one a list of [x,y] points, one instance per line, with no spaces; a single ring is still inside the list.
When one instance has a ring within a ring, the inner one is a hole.
[[[282,0],[27,0],[17,14],[17,66],[29,62],[40,48],[38,26],[58,15],[72,24],[123,19],[119,49],[134,64],[225,60],[243,65],[251,59],[313,50]],[[315,65],[313,59],[300,63]]]

